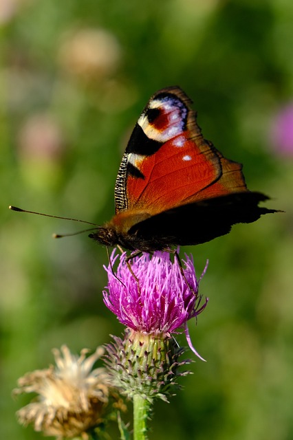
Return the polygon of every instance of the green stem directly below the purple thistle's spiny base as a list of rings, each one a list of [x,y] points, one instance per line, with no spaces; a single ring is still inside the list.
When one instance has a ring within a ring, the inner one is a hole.
[[[133,397],[133,440],[147,440],[146,423],[151,404],[145,397],[135,394]]]

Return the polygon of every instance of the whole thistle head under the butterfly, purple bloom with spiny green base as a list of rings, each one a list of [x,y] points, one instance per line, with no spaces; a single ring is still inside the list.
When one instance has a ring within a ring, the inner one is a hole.
[[[201,306],[198,284],[192,257],[186,256],[183,266],[169,252],[155,252],[153,256],[142,253],[131,259],[122,254],[116,273],[113,265],[118,260],[116,250],[105,269],[109,283],[103,292],[105,305],[127,327],[124,340],[113,337],[107,346],[107,360],[113,382],[128,397],[142,395],[167,400],[175,380],[180,375],[178,367],[190,360],[179,361],[184,349],[178,347],[173,333],[184,331],[191,350],[197,353],[189,336],[187,321],[196,318]],[[204,272],[206,271],[206,268]]]

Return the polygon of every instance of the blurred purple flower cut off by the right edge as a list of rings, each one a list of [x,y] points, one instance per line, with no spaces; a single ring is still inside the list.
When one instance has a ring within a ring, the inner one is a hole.
[[[271,140],[276,153],[293,155],[293,102],[283,107],[276,115]]]

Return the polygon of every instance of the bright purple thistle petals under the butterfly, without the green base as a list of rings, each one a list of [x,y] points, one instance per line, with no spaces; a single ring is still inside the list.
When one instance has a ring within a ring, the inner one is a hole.
[[[154,252],[153,256],[142,253],[131,259],[131,273],[124,252],[114,274],[113,265],[119,258],[115,253],[116,249],[111,254],[111,263],[105,267],[109,292],[104,291],[103,296],[108,309],[123,325],[140,333],[170,336],[184,329],[188,346],[204,360],[191,343],[187,321],[196,318],[208,302],[206,298],[199,307],[202,296],[198,295],[198,285],[207,265],[197,281],[192,256],[186,255],[186,261],[182,261],[182,274],[182,267],[177,259],[171,261],[169,252]]]

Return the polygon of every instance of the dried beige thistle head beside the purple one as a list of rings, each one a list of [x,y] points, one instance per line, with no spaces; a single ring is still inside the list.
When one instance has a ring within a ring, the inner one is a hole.
[[[104,420],[109,402],[110,381],[105,369],[92,369],[104,353],[99,347],[86,358],[72,355],[66,346],[54,349],[56,366],[27,373],[18,381],[14,395],[37,393],[30,404],[17,412],[20,423],[58,439],[83,435]]]

